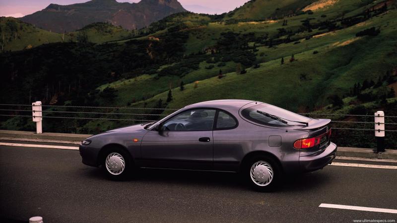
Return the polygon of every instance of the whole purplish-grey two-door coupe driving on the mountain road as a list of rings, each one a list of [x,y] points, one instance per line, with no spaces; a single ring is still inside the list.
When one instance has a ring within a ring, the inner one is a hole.
[[[81,142],[80,155],[83,164],[102,166],[115,180],[139,167],[228,171],[269,191],[283,174],[332,162],[337,147],[330,122],[262,102],[208,101],[156,122],[93,135]]]

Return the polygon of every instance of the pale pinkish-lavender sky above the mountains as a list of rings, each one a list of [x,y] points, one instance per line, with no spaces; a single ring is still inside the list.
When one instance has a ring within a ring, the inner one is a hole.
[[[22,17],[47,7],[50,3],[73,4],[88,0],[0,0],[0,16]],[[117,0],[138,2],[139,0]],[[227,3],[225,3],[225,1]],[[221,14],[243,5],[248,0],[179,0],[189,11],[197,13]]]

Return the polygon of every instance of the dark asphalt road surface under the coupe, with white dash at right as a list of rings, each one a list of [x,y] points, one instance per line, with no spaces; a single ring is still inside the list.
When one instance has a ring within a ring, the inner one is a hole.
[[[237,174],[145,169],[113,182],[75,150],[0,146],[0,220],[53,222],[353,222],[397,214],[397,169],[328,166],[290,176],[279,190],[250,190]]]

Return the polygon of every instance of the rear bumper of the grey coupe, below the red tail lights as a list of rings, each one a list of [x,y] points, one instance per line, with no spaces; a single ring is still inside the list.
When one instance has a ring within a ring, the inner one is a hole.
[[[308,172],[321,169],[332,163],[336,157],[337,146],[331,144],[324,150],[304,157],[299,157],[299,167],[301,171]]]

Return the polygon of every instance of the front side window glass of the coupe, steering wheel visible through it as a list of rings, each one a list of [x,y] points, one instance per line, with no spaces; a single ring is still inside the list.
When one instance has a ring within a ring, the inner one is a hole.
[[[182,112],[166,121],[162,131],[211,131],[215,110],[195,109]]]

